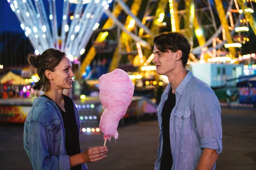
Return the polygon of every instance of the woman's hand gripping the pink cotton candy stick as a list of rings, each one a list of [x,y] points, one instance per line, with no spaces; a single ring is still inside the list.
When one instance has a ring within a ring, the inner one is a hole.
[[[83,158],[86,162],[96,162],[106,157],[108,149],[106,146],[90,147],[83,152]]]

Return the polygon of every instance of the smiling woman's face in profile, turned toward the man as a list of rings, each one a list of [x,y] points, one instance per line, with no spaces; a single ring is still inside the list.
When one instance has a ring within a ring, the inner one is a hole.
[[[70,59],[63,57],[61,62],[55,67],[54,72],[52,72],[53,79],[51,82],[53,88],[56,90],[72,88],[72,77],[74,76]]]

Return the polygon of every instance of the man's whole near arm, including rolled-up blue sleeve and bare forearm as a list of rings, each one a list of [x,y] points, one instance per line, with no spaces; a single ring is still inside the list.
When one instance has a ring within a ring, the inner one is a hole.
[[[213,91],[202,89],[192,102],[200,147],[203,153],[196,170],[212,170],[222,151],[221,108]]]

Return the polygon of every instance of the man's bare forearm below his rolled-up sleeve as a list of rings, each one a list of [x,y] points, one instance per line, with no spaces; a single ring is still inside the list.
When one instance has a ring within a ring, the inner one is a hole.
[[[204,148],[196,170],[212,170],[217,158],[218,153],[216,153],[216,150]]]

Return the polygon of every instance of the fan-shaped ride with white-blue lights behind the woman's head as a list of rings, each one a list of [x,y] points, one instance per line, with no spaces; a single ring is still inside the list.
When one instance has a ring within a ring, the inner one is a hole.
[[[47,48],[64,50],[70,60],[79,59],[84,47],[98,27],[102,14],[112,0],[7,0],[35,49],[41,54]],[[57,11],[62,11],[58,24]]]

